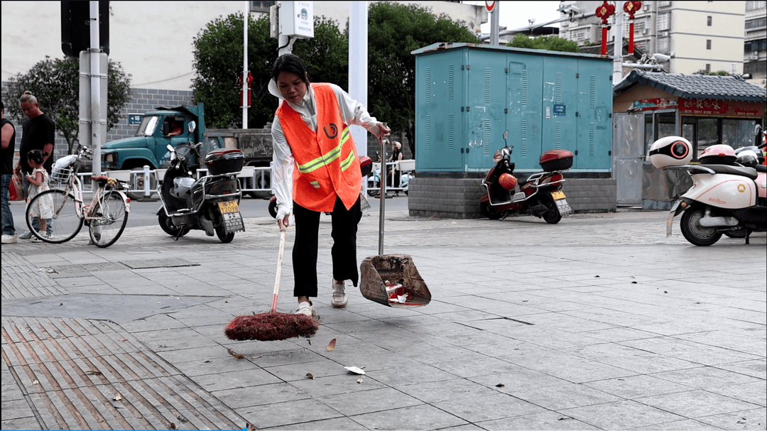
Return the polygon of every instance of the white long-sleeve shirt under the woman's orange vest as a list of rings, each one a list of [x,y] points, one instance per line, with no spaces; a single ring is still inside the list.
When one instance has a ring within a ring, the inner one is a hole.
[[[344,120],[344,123],[349,126],[353,124],[362,126],[377,136],[380,133],[377,120],[375,117],[370,117],[364,105],[352,99],[346,91],[341,90],[341,87],[335,84],[330,84],[330,86],[338,100],[341,119]],[[269,92],[276,97],[280,97],[280,103],[282,103],[281,95],[276,85],[270,84]],[[291,104],[287,101],[286,103],[301,116],[301,120],[304,120],[304,123],[312,131],[317,132],[317,100],[314,97],[314,90],[312,90],[311,85],[308,86],[300,104]],[[288,140],[285,139],[285,133],[282,132],[280,119],[277,115],[275,115],[275,120],[272,122],[272,146],[274,146],[272,155],[272,161],[274,162],[272,168],[272,187],[275,189],[275,196],[277,196],[277,211],[280,213],[283,212],[281,210],[285,210],[284,213],[291,213],[295,159],[288,145]]]

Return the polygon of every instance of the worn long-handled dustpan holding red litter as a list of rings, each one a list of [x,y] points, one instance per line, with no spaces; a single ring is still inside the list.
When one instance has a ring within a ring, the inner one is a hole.
[[[360,292],[370,301],[393,308],[423,307],[431,301],[431,293],[418,273],[410,255],[384,255],[384,206],[386,203],[386,147],[381,143],[380,211],[378,220],[378,255],[366,258],[360,265]],[[386,283],[390,283],[387,286]],[[388,287],[388,289],[387,289]],[[390,294],[405,301],[390,300]]]

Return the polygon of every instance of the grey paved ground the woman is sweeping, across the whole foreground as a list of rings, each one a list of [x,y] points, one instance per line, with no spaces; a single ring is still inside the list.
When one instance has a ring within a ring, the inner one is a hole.
[[[699,248],[678,219],[667,239],[665,218],[387,213],[384,252],[412,255],[433,301],[392,309],[351,288],[334,309],[321,286],[309,341],[223,337],[269,308],[268,218],[229,245],[155,226],[107,249],[6,245],[2,429],[765,429],[767,238]],[[377,229],[360,223],[360,262]]]

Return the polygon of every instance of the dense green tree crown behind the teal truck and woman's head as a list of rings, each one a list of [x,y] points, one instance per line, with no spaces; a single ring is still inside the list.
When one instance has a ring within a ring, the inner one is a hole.
[[[277,98],[269,94],[272,67],[277,60],[277,39],[269,36],[268,16],[248,19],[248,70],[253,76],[248,126],[272,121]],[[307,64],[312,81],[334,84],[347,81],[348,42],[334,21],[314,17],[314,38],[299,39],[293,53]],[[196,102],[205,104],[207,127],[242,127],[238,77],[242,73],[242,13],[211,21],[194,39]]]

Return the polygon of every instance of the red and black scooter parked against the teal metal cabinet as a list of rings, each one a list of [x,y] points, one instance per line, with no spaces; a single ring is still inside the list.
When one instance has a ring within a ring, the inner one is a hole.
[[[503,133],[503,140],[509,131]],[[510,161],[512,149],[505,146],[493,156],[497,164],[482,181],[486,193],[479,199],[479,210],[488,219],[505,219],[509,214],[536,216],[547,223],[556,224],[562,216],[572,212],[561,191],[565,178],[562,172],[573,165],[573,153],[568,150],[550,150],[542,154],[539,163],[543,172],[533,173],[521,181],[514,176],[514,163]]]

